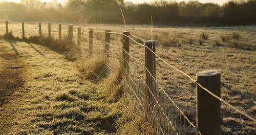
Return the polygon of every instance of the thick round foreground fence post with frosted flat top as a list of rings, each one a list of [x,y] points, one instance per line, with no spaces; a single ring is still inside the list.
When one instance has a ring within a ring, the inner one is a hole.
[[[197,83],[216,96],[221,96],[221,71],[199,72],[197,73]],[[221,102],[198,85],[197,127],[201,134],[221,134]]]

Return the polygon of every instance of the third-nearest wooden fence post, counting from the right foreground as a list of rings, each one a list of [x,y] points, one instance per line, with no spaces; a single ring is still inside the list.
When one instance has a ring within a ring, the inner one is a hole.
[[[130,38],[128,37],[130,35],[130,31],[124,31],[123,32],[123,64],[122,64],[122,72],[129,73],[129,54],[130,53]]]

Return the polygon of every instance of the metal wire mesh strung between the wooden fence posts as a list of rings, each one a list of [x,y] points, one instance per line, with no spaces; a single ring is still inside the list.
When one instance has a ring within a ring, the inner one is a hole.
[[[9,22],[9,27],[9,31],[12,31],[15,36],[22,37],[21,23],[19,26],[17,24],[12,24],[12,22]],[[51,28],[52,37],[58,38],[58,26],[54,25],[51,26]],[[33,32],[28,32],[26,31],[26,29],[33,30]],[[47,37],[48,24],[42,23],[41,29],[42,35]],[[77,29],[77,27],[73,27],[73,44],[71,44],[71,46],[73,46],[75,50],[79,50],[77,53],[79,53],[80,56],[89,55],[90,51],[93,52],[93,54],[90,56],[91,58],[106,56],[105,58],[108,59],[106,66],[108,66],[108,69],[111,72],[114,72],[117,68],[120,68],[121,61],[125,63],[121,66],[121,70],[123,71],[122,76],[124,91],[127,93],[129,98],[133,99],[132,101],[139,113],[144,114],[147,126],[152,129],[153,134],[201,134],[195,126],[196,96],[194,91],[194,87],[196,85],[204,88],[201,84],[198,84],[189,75],[176,69],[159,56],[157,56],[156,59],[157,76],[152,75],[152,73],[148,71],[148,69],[145,67],[144,51],[147,48],[145,48],[144,44],[137,42],[132,37],[129,37],[131,39],[130,52],[126,52],[122,49],[122,43],[119,40],[123,36],[122,33],[95,30],[93,31],[94,37],[90,38],[89,30],[83,28],[81,32],[81,43],[78,44]],[[25,24],[26,37],[38,35],[38,31],[38,24],[30,24],[29,27]],[[5,32],[5,25],[0,25],[0,32],[2,34]],[[110,43],[105,42],[105,33],[110,33],[111,35],[114,35],[114,37],[111,37],[113,38],[113,40],[111,40]],[[66,38],[67,35],[68,27],[62,26],[62,38]],[[142,41],[143,43],[145,42],[144,39],[139,38],[136,35],[131,36],[140,39],[140,41]],[[93,48],[89,48],[90,40],[92,41]],[[105,49],[105,44],[108,44],[110,46],[109,50]],[[188,69],[198,72],[198,68],[169,53],[161,46],[160,50],[162,52],[165,52],[168,56],[173,57],[175,61],[184,64],[184,66],[186,66]],[[124,52],[124,56],[122,56],[122,52]],[[102,54],[105,53],[108,53],[108,55],[103,56]],[[129,57],[129,59],[124,59],[124,57]],[[173,69],[177,70],[180,74],[188,77],[188,80],[192,80],[193,83],[191,84],[196,84],[193,86],[186,86],[183,81],[180,81],[179,78],[174,77],[173,72],[170,72]],[[169,81],[166,81],[166,78],[158,76],[159,73],[167,75],[167,79],[169,79]],[[167,82],[170,83],[170,85],[166,85]],[[226,86],[224,83],[222,83],[222,86],[230,89],[230,87]],[[207,91],[207,89],[204,90]],[[178,98],[181,94],[186,94],[186,99]],[[225,110],[230,112],[236,110],[239,113],[243,114],[246,118],[251,118],[247,114],[243,113],[243,111],[238,110],[229,103],[223,101],[223,99],[221,99],[220,97],[215,96],[215,98],[222,101],[227,107],[232,108],[227,109],[225,107]],[[246,96],[244,96],[244,98],[248,99]],[[189,105],[181,104],[181,100],[183,102],[189,103]],[[183,110],[189,110],[190,114],[184,112]],[[224,123],[223,127],[228,127],[236,131],[236,128],[232,127],[230,124]]]

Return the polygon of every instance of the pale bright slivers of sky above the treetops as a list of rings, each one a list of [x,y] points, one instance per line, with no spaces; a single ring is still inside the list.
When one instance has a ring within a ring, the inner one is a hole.
[[[1,0],[0,0],[1,1]],[[5,0],[8,2],[20,2],[20,0]],[[52,2],[53,0],[41,0],[41,2]],[[66,0],[58,0],[59,3],[63,3]],[[143,3],[143,2],[152,2],[154,0],[124,0],[124,2],[133,2],[133,3]],[[189,0],[176,0],[176,2],[180,1],[189,1]],[[201,3],[208,3],[208,2],[213,2],[213,3],[218,3],[218,4],[223,4],[225,2],[228,2],[228,0],[198,0]]]

